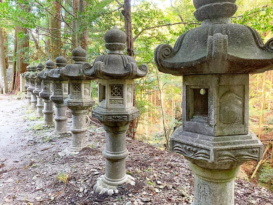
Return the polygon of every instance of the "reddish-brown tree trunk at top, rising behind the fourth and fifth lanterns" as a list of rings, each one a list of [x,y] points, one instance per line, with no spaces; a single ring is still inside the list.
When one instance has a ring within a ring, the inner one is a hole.
[[[54,15],[50,16],[49,22],[49,31],[50,31],[50,54],[52,55],[53,60],[59,56],[61,50],[61,21],[58,20],[61,18],[61,5],[58,1],[53,2],[52,4]]]

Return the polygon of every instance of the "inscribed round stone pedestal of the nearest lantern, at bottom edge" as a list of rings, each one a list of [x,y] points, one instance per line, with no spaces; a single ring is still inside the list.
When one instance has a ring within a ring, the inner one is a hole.
[[[191,205],[233,205],[234,179],[240,166],[231,169],[207,169],[189,162],[194,173],[194,201]]]

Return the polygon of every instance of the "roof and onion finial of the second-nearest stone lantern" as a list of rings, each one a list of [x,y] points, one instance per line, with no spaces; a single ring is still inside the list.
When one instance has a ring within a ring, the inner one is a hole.
[[[148,72],[146,65],[137,66],[133,57],[123,54],[126,48],[126,35],[115,25],[104,35],[107,55],[96,58],[93,67],[84,63],[83,72],[88,77],[103,79],[135,79],[144,77]]]

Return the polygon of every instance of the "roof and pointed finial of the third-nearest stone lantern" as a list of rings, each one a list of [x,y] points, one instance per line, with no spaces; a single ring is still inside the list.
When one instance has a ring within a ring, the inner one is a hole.
[[[86,77],[86,75],[83,73],[83,63],[86,62],[87,54],[86,54],[86,50],[84,50],[80,46],[80,42],[78,43],[78,47],[74,48],[71,51],[71,54],[72,54],[72,60],[74,60],[74,63],[66,65],[64,68],[62,68],[59,71],[59,73],[61,74],[61,77],[64,79],[73,79],[73,80],[88,79],[88,77]]]

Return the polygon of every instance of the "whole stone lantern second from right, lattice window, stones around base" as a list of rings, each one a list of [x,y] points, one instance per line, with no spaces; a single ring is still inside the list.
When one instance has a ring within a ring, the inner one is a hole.
[[[133,107],[133,79],[144,77],[148,68],[137,66],[133,57],[123,54],[126,48],[126,35],[117,26],[104,35],[107,55],[96,58],[93,67],[83,65],[83,72],[92,78],[98,78],[99,106],[92,116],[103,123],[106,131],[106,146],[103,156],[106,158],[106,173],[94,186],[96,192],[101,188],[116,189],[128,181],[125,159],[126,131],[129,123],[139,116],[139,110]]]

